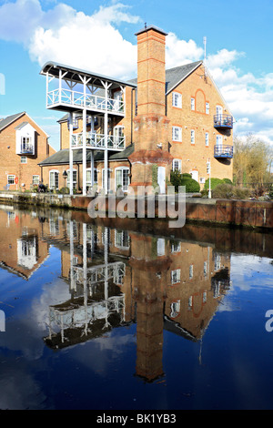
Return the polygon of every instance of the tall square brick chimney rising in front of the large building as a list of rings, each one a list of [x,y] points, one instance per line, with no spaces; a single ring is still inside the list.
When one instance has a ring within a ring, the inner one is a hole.
[[[143,28],[137,36],[137,116],[134,119],[135,152],[131,186],[153,183],[152,165],[165,168],[169,176],[172,157],[168,145],[169,119],[166,112],[166,36],[154,25]],[[164,171],[164,170],[163,170]],[[163,185],[164,187],[164,185]],[[161,182],[161,192],[162,182]]]

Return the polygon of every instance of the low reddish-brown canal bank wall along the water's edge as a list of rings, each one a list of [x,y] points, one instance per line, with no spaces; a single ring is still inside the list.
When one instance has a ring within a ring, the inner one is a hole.
[[[34,205],[38,207],[54,207],[60,209],[73,209],[87,211],[89,203],[93,200],[92,197],[81,195],[69,196],[60,194],[48,193],[19,193],[19,192],[0,192],[0,202],[12,203],[21,205]],[[113,198],[106,198],[104,204],[101,205],[99,213],[104,209],[106,213],[109,211],[110,203],[113,207]],[[122,199],[115,198],[114,208]],[[142,213],[147,217],[147,199],[144,205],[145,209]],[[161,217],[160,200],[155,198],[155,219]],[[137,201],[130,204],[131,211],[128,216],[137,218]],[[174,209],[177,210],[178,201]],[[166,213],[165,219],[174,219],[168,217]],[[112,212],[113,216],[113,212]],[[106,214],[107,217],[107,214]],[[139,217],[139,216],[138,216]],[[236,199],[202,199],[202,198],[187,198],[186,199],[186,219],[187,222],[197,222],[198,224],[221,225],[226,227],[240,227],[250,229],[271,229],[273,228],[273,201],[258,201],[258,200],[236,200]]]

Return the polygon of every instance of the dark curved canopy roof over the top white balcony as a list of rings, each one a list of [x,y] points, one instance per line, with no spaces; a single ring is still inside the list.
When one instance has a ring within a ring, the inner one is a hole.
[[[111,82],[113,84],[116,84],[116,86],[119,86],[119,85],[129,86],[129,87],[135,87],[136,86],[134,84],[130,84],[126,81],[115,79],[113,77],[98,75],[96,73],[93,73],[90,70],[83,70],[81,68],[76,68],[74,66],[66,66],[65,64],[59,64],[59,63],[52,62],[52,61],[45,63],[45,65],[42,67],[42,69],[40,71],[40,75],[46,75],[46,73],[49,73],[50,76],[59,77],[59,70],[63,70],[66,72],[66,78],[67,79],[72,79],[73,81],[78,82],[80,84],[82,84],[83,82],[82,82],[80,76],[78,76],[78,75],[82,75],[82,76],[86,76],[88,78],[91,78],[92,83],[95,84],[95,82],[96,82],[97,87],[103,87],[101,82],[100,82],[100,79],[103,79],[103,80],[106,80],[107,82]],[[90,82],[89,82],[89,84],[90,84]]]

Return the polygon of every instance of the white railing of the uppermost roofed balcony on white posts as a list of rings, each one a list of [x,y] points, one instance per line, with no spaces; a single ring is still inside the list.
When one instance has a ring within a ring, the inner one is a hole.
[[[47,93],[46,107],[54,107],[58,104],[66,104],[72,107],[86,107],[92,110],[108,111],[124,114],[125,103],[121,99],[98,97],[96,95],[83,94],[70,89],[55,89]]]

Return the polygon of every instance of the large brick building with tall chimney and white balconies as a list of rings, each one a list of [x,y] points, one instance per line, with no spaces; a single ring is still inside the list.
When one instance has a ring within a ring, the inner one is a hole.
[[[208,161],[211,177],[232,179],[233,117],[207,67],[197,61],[166,69],[167,34],[149,26],[136,36],[136,79],[43,67],[47,107],[67,112],[59,121],[61,150],[40,164],[52,189],[86,194],[96,185],[107,193],[157,183],[164,193],[171,169],[190,173],[202,189]],[[58,89],[49,90],[51,80]]]

